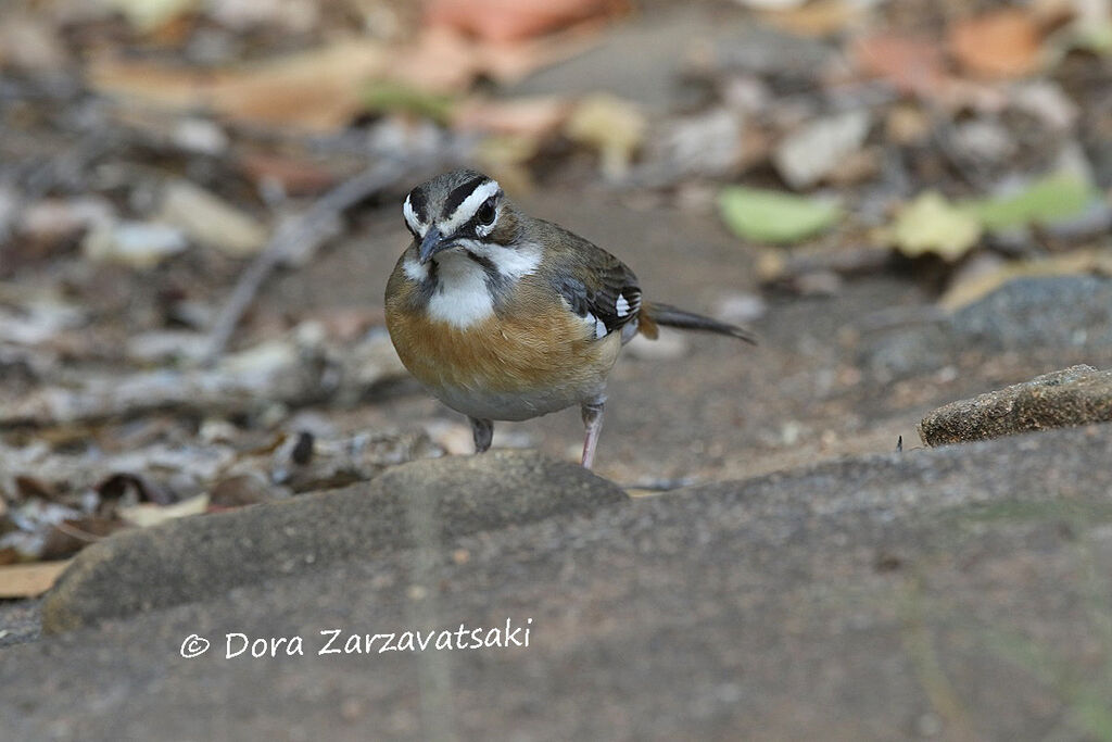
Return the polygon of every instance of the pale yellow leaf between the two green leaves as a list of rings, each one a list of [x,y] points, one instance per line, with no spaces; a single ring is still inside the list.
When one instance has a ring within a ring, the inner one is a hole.
[[[936,191],[920,194],[892,225],[892,241],[909,257],[934,253],[947,260],[965,255],[981,239],[981,222]]]

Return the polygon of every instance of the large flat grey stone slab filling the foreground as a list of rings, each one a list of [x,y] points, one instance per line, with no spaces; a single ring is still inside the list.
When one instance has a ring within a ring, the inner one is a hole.
[[[8,647],[3,732],[1098,739],[1110,431],[638,498],[461,536],[425,566],[388,552]],[[318,654],[321,630],[398,642],[507,617],[529,646]],[[232,632],[299,635],[305,654],[227,659]],[[195,633],[211,649],[181,659]]]

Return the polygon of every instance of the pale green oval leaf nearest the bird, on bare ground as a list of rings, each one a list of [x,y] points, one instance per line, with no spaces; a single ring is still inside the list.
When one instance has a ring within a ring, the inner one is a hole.
[[[797,243],[842,218],[842,210],[830,201],[738,186],[723,189],[718,210],[735,235],[762,243]]]

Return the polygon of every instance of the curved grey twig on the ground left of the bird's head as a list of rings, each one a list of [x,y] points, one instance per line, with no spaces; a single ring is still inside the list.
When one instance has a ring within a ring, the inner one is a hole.
[[[232,289],[231,296],[221,308],[220,315],[209,332],[208,350],[205,355],[206,365],[212,365],[224,354],[239,320],[255,301],[255,296],[275,268],[286,261],[295,251],[300,253],[302,257],[311,256],[319,247],[317,236],[326,233],[328,225],[339,214],[368,196],[397,182],[413,167],[413,162],[400,159],[384,159],[359,175],[345,180],[325,194],[308,211],[282,225],[271,237],[270,243],[240,275],[236,288]],[[309,247],[306,247],[307,245]]]

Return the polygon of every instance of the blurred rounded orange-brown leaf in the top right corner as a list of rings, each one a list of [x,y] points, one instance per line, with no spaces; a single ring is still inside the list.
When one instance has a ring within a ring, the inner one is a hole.
[[[947,43],[973,75],[1022,77],[1039,66],[1042,32],[1030,11],[1009,8],[952,23]]]

